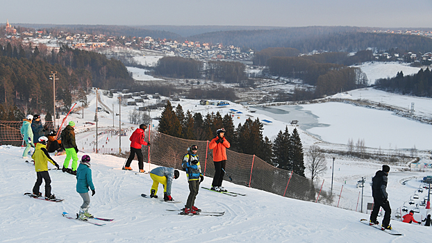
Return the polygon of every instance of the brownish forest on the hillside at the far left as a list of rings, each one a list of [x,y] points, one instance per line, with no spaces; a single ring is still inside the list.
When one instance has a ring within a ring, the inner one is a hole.
[[[133,83],[126,67],[114,59],[90,51],[60,47],[49,51],[40,44],[0,42],[0,103],[40,112],[53,108],[53,81],[56,74],[56,100],[64,109],[72,104],[72,91],[88,87],[121,88]]]

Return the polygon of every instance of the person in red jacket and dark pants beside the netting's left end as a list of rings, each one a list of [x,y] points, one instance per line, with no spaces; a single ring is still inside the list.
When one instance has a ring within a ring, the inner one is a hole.
[[[140,173],[144,173],[144,156],[142,156],[141,147],[142,145],[150,146],[148,142],[144,141],[144,131],[147,129],[147,126],[144,124],[140,125],[140,128],[135,130],[129,140],[131,140],[131,154],[129,155],[128,160],[126,161],[126,165],[124,165],[123,169],[132,170],[131,162],[133,158],[135,158],[135,153],[138,157],[138,167],[140,167]]]

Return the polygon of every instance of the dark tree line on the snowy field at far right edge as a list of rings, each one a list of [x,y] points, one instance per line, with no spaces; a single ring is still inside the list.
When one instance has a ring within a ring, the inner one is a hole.
[[[401,94],[412,94],[418,97],[432,97],[432,73],[429,67],[420,69],[417,74],[404,76],[398,72],[394,78],[376,80],[377,88]]]

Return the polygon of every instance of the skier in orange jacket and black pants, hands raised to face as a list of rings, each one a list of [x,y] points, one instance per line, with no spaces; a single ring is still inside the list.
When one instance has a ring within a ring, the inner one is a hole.
[[[222,187],[222,181],[225,175],[226,149],[229,149],[231,144],[229,144],[224,137],[224,128],[220,128],[216,133],[216,137],[208,144],[208,149],[213,149],[213,163],[215,164],[215,176],[213,177],[211,190],[227,192],[227,190]]]

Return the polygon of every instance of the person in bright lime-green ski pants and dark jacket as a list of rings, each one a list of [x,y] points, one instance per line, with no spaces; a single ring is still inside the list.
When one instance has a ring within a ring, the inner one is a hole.
[[[76,153],[78,153],[78,147],[76,146],[75,142],[74,128],[75,122],[69,121],[69,124],[62,131],[62,144],[66,150],[66,158],[65,162],[63,162],[62,171],[76,176],[76,167],[78,167],[78,156],[76,155]],[[69,169],[68,167],[71,158],[72,169]]]

